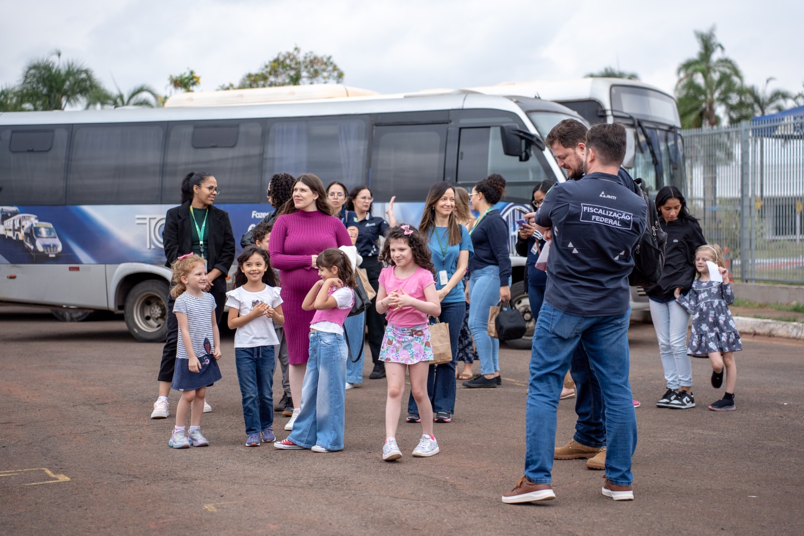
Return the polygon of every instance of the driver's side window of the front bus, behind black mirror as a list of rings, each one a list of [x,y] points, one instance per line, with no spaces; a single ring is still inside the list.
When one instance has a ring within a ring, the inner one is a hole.
[[[498,173],[506,179],[509,201],[530,199],[536,182],[553,177],[544,154],[538,149],[532,151],[527,162],[519,162],[518,157],[503,153],[497,126],[461,129],[457,158],[458,184],[470,190],[476,182]]]

